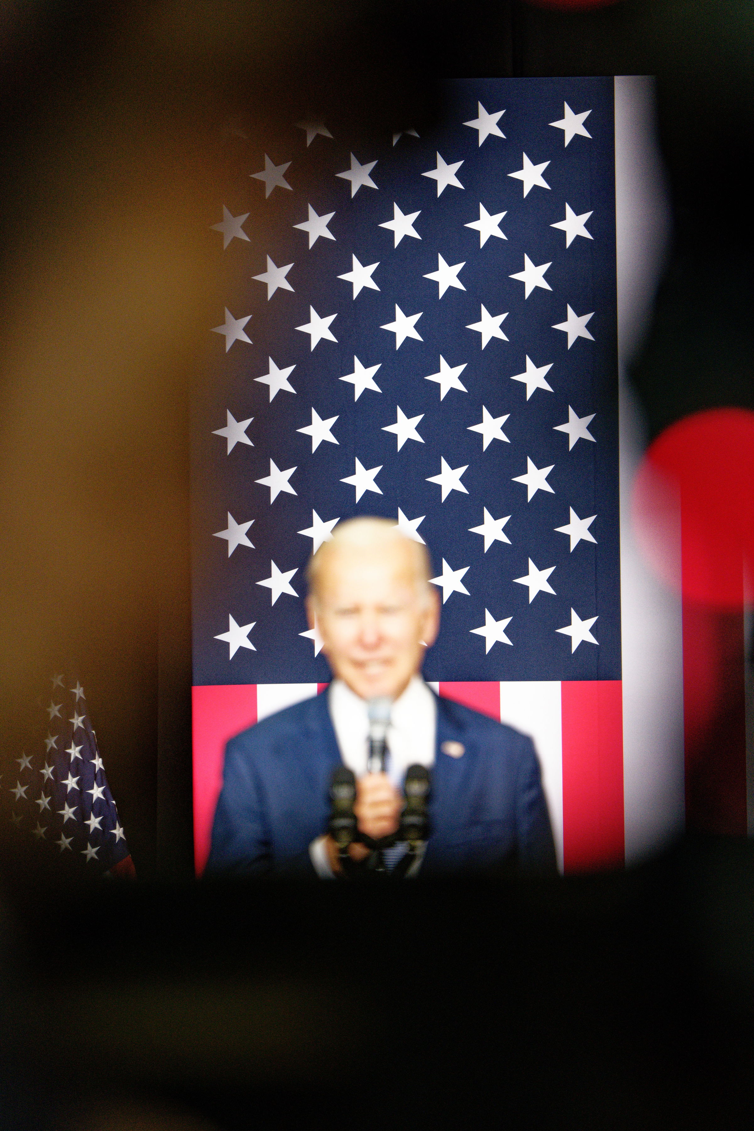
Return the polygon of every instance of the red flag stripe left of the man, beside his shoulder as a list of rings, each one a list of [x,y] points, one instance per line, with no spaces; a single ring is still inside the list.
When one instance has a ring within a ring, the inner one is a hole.
[[[192,703],[193,853],[197,875],[201,875],[223,786],[225,743],[257,722],[257,684],[192,688]]]

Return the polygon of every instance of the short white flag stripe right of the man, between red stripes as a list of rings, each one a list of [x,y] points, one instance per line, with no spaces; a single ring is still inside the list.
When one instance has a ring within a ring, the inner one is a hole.
[[[500,684],[500,720],[534,740],[541,768],[555,838],[557,866],[563,871],[563,740],[561,684],[531,680]]]

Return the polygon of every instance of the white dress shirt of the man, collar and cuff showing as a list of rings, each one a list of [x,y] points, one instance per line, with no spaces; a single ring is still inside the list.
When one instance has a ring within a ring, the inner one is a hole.
[[[369,717],[366,700],[359,699],[343,680],[333,680],[328,689],[328,708],[344,766],[357,778],[366,774],[369,756]],[[396,699],[388,726],[388,777],[401,788],[406,770],[418,763],[430,769],[434,765],[437,708],[434,696],[419,675],[413,676],[404,693]],[[327,856],[324,837],[309,846],[309,854],[321,879],[333,879]]]

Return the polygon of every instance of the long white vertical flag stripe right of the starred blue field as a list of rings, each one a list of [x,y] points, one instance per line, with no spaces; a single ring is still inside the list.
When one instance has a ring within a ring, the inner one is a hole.
[[[621,374],[623,784],[630,864],[656,852],[684,823],[681,599],[644,566],[630,512],[631,485],[647,443],[626,366],[649,328],[669,238],[669,205],[655,135],[653,80],[644,76],[615,79],[615,210]]]

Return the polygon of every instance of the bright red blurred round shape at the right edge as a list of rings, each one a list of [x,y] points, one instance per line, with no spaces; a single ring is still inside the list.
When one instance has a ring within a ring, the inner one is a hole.
[[[712,408],[666,429],[636,474],[632,517],[649,564],[685,599],[740,608],[754,576],[754,413]]]

